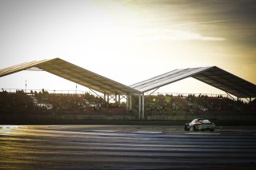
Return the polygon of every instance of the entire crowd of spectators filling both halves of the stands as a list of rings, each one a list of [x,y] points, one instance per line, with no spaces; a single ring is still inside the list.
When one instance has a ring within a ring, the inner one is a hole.
[[[138,111],[138,97],[133,97],[133,110]],[[66,94],[18,90],[0,92],[0,113],[37,114],[123,114],[125,103],[108,103],[90,93]],[[145,96],[146,115],[175,114],[256,114],[256,101],[235,101],[228,97],[207,95],[173,96],[157,94]]]

